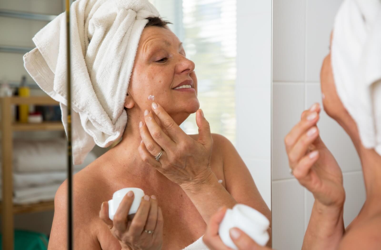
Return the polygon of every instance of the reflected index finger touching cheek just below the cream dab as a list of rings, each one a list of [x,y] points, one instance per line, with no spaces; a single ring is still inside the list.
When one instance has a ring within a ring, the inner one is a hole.
[[[163,109],[163,107],[157,103],[152,103],[152,110],[157,116],[157,118],[160,120],[160,123],[162,124],[163,128],[168,132],[170,138],[175,143],[181,141],[183,139],[183,136],[185,135],[184,131],[182,131],[179,125],[177,125],[176,122],[174,122],[172,117],[168,115],[168,113]]]

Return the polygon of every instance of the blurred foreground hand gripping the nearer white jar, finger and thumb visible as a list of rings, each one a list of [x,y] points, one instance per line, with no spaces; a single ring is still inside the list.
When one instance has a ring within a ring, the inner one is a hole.
[[[224,218],[226,213],[226,207],[218,210],[211,218],[208,223],[207,231],[203,236],[202,240],[211,250],[231,250],[230,247],[227,247],[221,240],[218,235],[219,224]],[[268,247],[262,247],[251,239],[247,234],[242,232],[238,228],[230,229],[230,237],[233,240],[234,244],[238,247],[239,250],[269,250]]]

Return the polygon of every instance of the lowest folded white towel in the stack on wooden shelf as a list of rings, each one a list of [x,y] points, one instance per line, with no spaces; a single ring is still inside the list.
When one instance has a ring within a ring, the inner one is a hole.
[[[13,202],[15,204],[28,204],[54,200],[54,196],[60,185],[61,184],[52,184],[39,187],[16,188],[13,191]],[[0,197],[2,197],[2,192],[0,192]]]

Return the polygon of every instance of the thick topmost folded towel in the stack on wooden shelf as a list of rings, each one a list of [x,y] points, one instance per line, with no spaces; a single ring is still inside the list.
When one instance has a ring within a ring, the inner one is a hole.
[[[43,141],[14,140],[13,172],[35,173],[66,170],[66,145],[67,142],[64,138]],[[96,158],[96,155],[90,152],[82,164],[73,166],[74,170],[81,170]]]

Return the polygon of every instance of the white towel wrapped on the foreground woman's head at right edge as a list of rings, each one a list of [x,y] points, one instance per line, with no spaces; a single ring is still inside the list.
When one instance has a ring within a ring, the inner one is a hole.
[[[362,144],[381,155],[380,0],[344,0],[335,18],[331,64]]]

